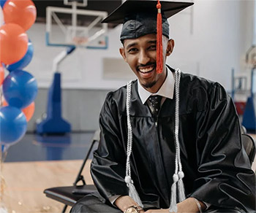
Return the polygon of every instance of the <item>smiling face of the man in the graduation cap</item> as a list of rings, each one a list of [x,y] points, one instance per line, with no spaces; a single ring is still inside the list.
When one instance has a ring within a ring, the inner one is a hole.
[[[163,36],[163,58],[173,51],[173,40],[167,41]],[[157,35],[147,34],[138,39],[125,39],[124,47],[120,53],[132,71],[138,77],[140,84],[151,93],[156,93],[165,81],[166,69],[163,67],[161,74],[157,74]]]

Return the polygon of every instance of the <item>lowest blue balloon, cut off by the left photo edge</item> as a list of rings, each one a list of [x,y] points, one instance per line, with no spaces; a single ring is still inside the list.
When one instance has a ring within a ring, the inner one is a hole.
[[[16,107],[0,108],[0,143],[18,142],[26,133],[26,117]]]

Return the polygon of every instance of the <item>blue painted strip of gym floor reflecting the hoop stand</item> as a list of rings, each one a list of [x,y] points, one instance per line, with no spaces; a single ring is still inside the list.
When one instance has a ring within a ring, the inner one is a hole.
[[[4,162],[83,159],[92,136],[93,131],[62,136],[27,133],[20,142],[9,148]]]

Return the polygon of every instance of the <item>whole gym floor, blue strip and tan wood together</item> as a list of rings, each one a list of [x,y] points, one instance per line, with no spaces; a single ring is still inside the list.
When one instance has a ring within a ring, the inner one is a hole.
[[[12,213],[61,212],[64,205],[47,198],[43,190],[72,185],[93,135],[94,132],[67,136],[26,134],[10,147],[2,163],[0,207],[4,205]],[[255,134],[251,135],[256,139]],[[90,163],[88,160],[83,170],[88,184],[92,184]],[[256,162],[252,169],[256,171]]]

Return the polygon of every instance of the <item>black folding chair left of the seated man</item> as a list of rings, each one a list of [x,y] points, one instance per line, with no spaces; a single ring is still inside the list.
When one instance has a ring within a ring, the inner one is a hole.
[[[99,142],[99,131],[96,131],[94,133],[89,151],[86,154],[86,158],[83,160],[82,166],[80,167],[80,171],[78,172],[78,176],[75,179],[75,182],[72,186],[51,187],[44,190],[44,193],[48,198],[52,198],[53,200],[65,204],[62,212],[66,211],[67,206],[74,206],[75,203],[78,200],[80,200],[80,198],[83,198],[84,195],[94,193],[97,191],[94,185],[86,185],[86,181],[82,175],[82,171],[84,166],[86,165],[86,161],[88,160],[89,155],[91,154],[91,151],[94,148],[94,144],[96,144],[97,142]],[[78,182],[82,182],[83,185],[78,185]]]

